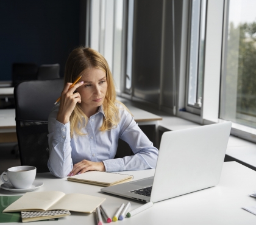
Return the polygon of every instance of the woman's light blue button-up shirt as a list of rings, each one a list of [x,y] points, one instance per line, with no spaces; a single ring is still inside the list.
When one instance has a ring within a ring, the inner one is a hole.
[[[120,122],[109,131],[99,131],[105,117],[102,106],[91,116],[82,129],[84,136],[70,137],[69,122],[63,125],[56,120],[59,104],[54,106],[48,118],[49,160],[48,168],[54,176],[63,178],[73,169],[73,165],[86,159],[103,162],[106,171],[144,170],[155,168],[158,150],[140,130],[132,115],[118,105]],[[130,145],[134,155],[114,159],[118,139]]]

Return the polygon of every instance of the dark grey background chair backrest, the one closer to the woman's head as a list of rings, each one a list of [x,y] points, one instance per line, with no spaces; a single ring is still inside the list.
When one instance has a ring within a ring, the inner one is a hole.
[[[38,80],[49,80],[60,77],[60,64],[41,65],[38,69]]]

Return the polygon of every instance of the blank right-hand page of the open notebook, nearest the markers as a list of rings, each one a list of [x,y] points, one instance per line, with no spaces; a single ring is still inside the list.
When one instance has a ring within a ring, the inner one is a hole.
[[[49,210],[70,210],[75,212],[85,212],[91,213],[96,207],[99,207],[102,202],[105,201],[105,198],[100,198],[91,195],[84,194],[66,194],[56,202],[53,206],[49,208]]]

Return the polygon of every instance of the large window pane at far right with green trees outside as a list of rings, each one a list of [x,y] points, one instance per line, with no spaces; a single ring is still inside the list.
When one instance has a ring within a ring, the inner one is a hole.
[[[219,117],[256,128],[256,1],[227,2]]]

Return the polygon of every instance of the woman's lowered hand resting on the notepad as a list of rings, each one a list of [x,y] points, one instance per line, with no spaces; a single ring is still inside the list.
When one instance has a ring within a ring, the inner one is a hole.
[[[105,165],[103,162],[91,162],[84,159],[81,162],[74,164],[73,170],[68,174],[68,176],[85,173],[90,170],[105,171]]]

